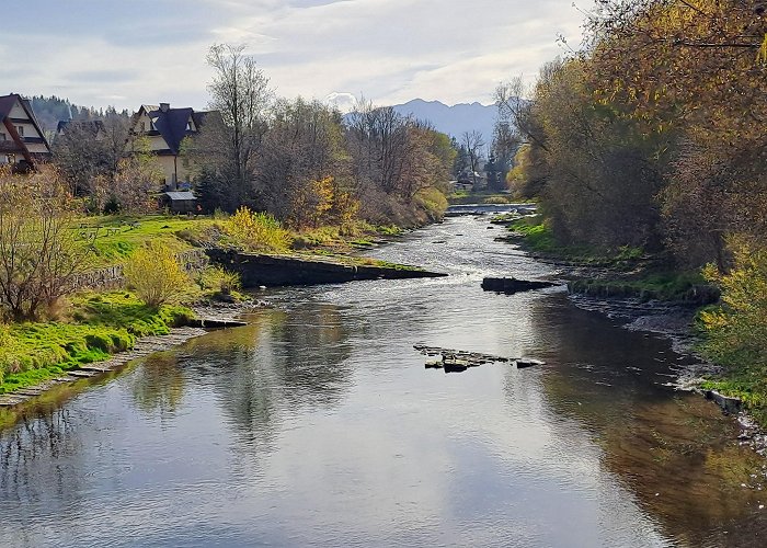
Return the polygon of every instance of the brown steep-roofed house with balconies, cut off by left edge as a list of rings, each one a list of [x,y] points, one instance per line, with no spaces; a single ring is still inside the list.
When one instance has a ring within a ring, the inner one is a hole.
[[[30,101],[16,93],[0,96],[0,165],[26,171],[49,158],[50,146]]]

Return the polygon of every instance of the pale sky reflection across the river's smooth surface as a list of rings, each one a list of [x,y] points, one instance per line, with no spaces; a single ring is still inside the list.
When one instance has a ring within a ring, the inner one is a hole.
[[[551,412],[554,370],[423,368],[414,342],[539,351],[525,311],[540,296],[478,290],[494,250],[466,278],[277,292],[286,312],[263,312],[256,347],[227,363],[216,333],[209,351],[201,339],[179,352],[172,413],[136,409],[137,380],[162,383],[140,367],[81,395],[59,456],[43,444],[11,463],[0,545],[24,544],[22,530],[28,545],[66,546],[662,545],[592,434]],[[286,340],[306,352],[286,362]],[[307,367],[322,359],[330,370],[312,384]],[[60,483],[71,489],[50,489]]]

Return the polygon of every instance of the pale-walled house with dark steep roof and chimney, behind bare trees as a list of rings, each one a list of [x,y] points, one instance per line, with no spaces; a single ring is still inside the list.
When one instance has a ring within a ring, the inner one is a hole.
[[[190,181],[192,167],[182,155],[184,138],[194,138],[213,112],[195,112],[193,109],[171,109],[170,103],[144,104],[131,118],[130,134],[146,137],[149,151],[157,156],[164,173],[164,190],[178,191],[182,182]],[[133,139],[131,139],[133,142]],[[133,146],[133,145],[129,145]]]

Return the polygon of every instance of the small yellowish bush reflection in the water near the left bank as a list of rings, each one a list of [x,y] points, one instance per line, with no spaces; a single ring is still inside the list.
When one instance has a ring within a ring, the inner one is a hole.
[[[149,355],[136,375],[131,391],[145,413],[173,413],[184,396],[184,375],[173,352]]]

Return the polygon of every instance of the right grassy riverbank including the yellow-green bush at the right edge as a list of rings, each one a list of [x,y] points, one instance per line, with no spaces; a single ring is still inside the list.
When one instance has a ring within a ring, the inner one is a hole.
[[[726,274],[713,266],[705,272],[678,272],[664,269],[665,261],[641,250],[559,246],[540,217],[515,220],[508,228],[512,240],[533,253],[600,271],[598,277],[572,279],[569,288],[574,293],[699,306],[696,351],[722,367],[721,374],[709,376],[700,387],[739,398],[762,427],[767,427],[766,253],[735,246],[733,266]]]

